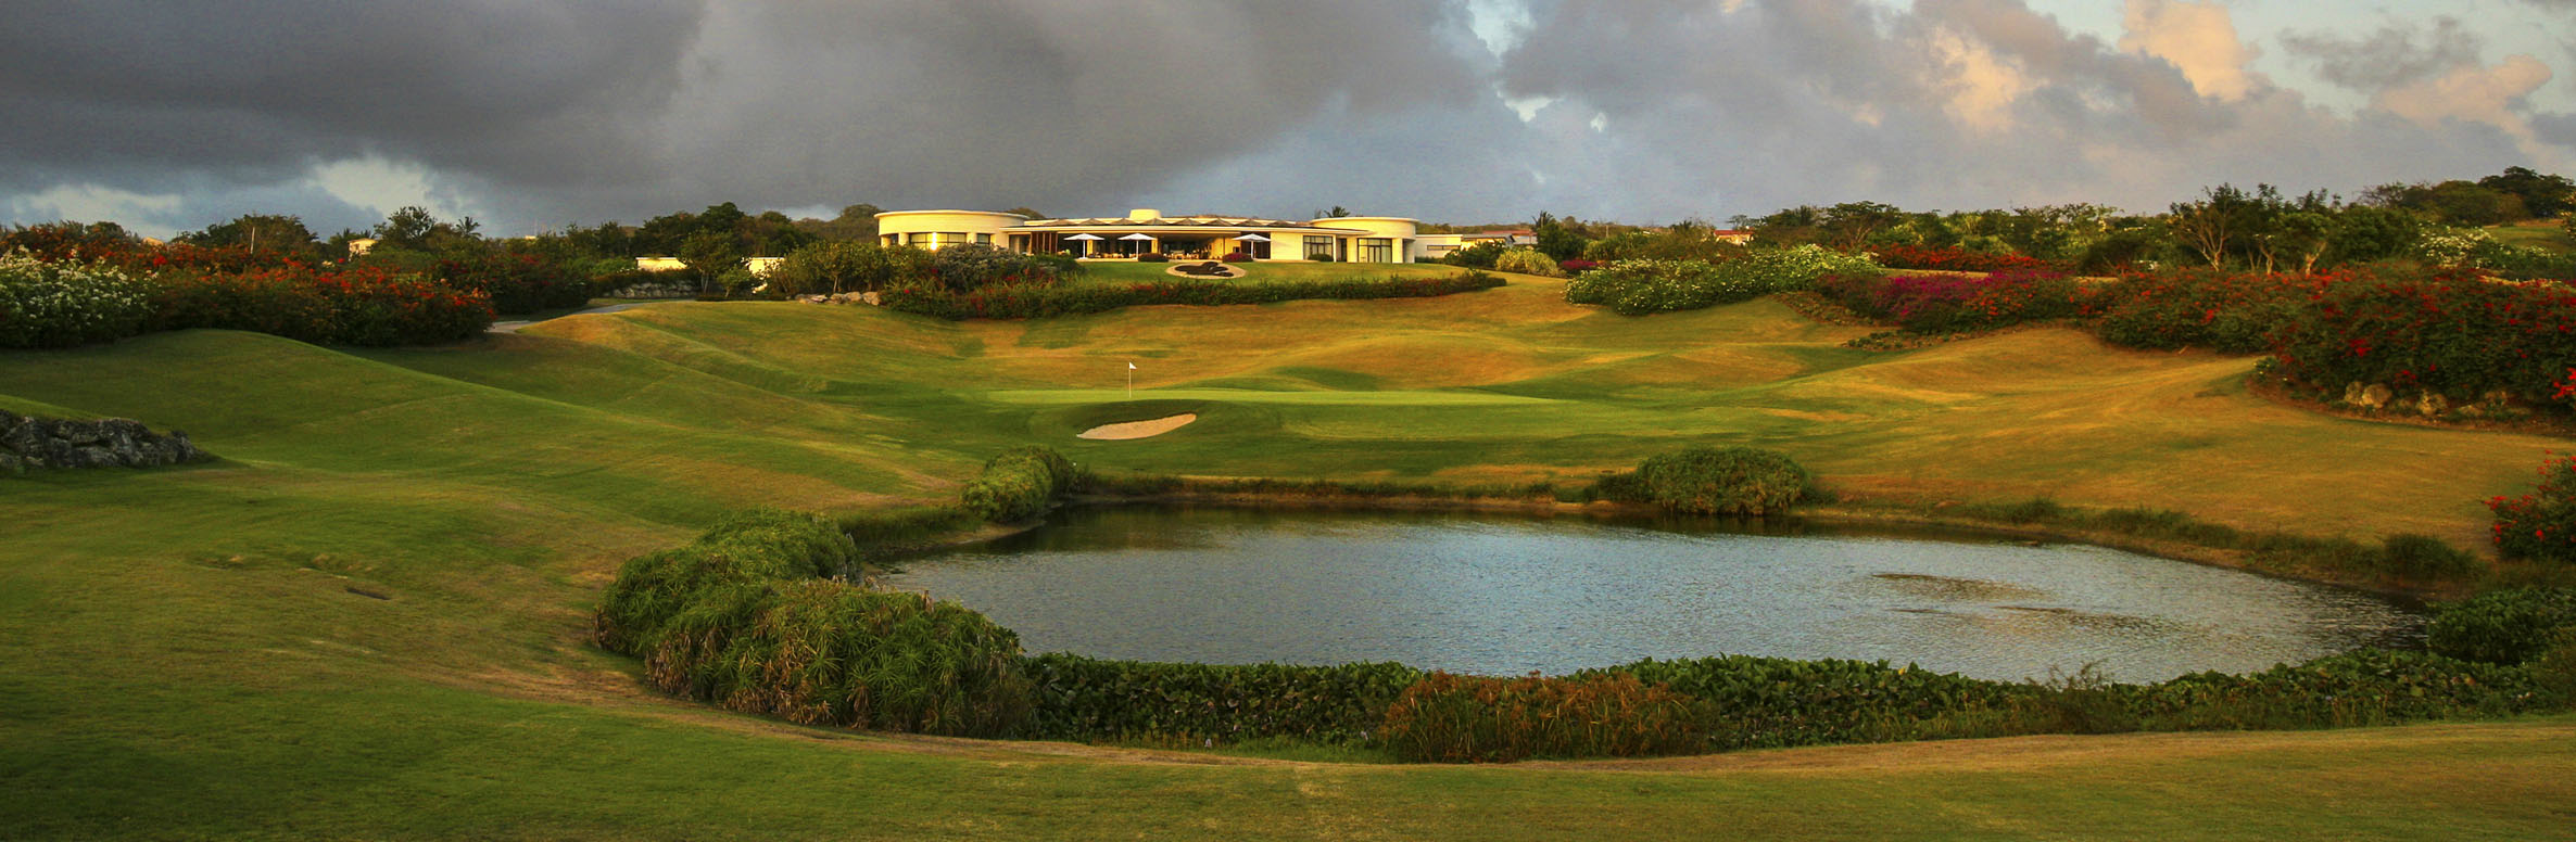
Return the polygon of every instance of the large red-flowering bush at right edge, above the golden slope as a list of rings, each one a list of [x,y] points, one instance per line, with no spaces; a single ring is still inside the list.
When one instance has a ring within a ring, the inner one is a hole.
[[[2576,288],[2465,273],[2326,286],[2280,337],[2277,371],[2316,389],[2388,384],[2452,402],[2576,404]]]

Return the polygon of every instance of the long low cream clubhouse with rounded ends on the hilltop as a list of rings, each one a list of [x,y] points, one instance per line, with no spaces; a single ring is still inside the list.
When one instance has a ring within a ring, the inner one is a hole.
[[[1458,234],[1417,234],[1419,221],[1404,216],[1327,216],[1309,221],[1257,216],[1162,216],[1136,209],[1126,216],[1028,219],[994,211],[884,211],[876,214],[881,245],[940,250],[951,245],[992,245],[1023,255],[1074,255],[1084,260],[1136,260],[1167,255],[1177,260],[1216,260],[1231,252],[1255,260],[1337,260],[1337,263],[1417,263],[1435,257],[1440,245],[1455,247]]]

